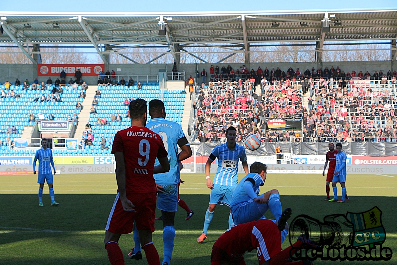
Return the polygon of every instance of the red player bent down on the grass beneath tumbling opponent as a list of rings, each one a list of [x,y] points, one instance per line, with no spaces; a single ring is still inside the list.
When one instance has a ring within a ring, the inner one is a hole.
[[[285,224],[285,230],[288,225]],[[244,253],[256,249],[259,265],[310,265],[311,261],[289,261],[290,250],[304,242],[300,237],[295,244],[281,251],[281,234],[272,220],[261,219],[238,224],[227,230],[212,247],[211,265],[245,265]],[[292,255],[295,253],[292,251]]]

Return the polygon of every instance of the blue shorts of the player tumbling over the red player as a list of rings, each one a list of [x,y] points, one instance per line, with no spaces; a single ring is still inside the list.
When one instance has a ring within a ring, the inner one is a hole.
[[[231,216],[235,225],[244,224],[266,219],[264,215],[268,209],[267,203],[256,203],[249,200],[238,207],[231,208]]]

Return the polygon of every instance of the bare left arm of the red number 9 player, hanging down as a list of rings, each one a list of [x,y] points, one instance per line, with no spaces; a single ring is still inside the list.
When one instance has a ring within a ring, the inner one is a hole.
[[[125,192],[125,162],[124,162],[124,152],[117,152],[114,154],[114,159],[116,160],[116,180],[117,187],[120,194],[121,205],[123,209],[127,212],[135,212],[135,205],[127,199],[127,194]]]

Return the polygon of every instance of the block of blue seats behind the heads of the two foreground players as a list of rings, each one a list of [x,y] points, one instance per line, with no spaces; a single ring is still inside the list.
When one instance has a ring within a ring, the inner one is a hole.
[[[181,91],[162,92],[158,83],[143,83],[142,89],[138,89],[137,84],[129,87],[98,86],[98,92],[94,96],[89,123],[81,138],[82,149],[78,150],[77,155],[110,154],[114,134],[131,126],[128,104],[132,99],[162,99],[166,107],[166,119],[181,124],[185,105],[185,94]]]

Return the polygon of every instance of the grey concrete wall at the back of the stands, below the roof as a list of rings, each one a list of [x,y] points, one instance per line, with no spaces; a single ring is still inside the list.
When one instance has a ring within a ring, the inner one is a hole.
[[[222,65],[227,66],[228,63],[220,63],[220,64],[214,64],[218,65],[219,68],[222,68]],[[392,67],[393,64],[393,67]],[[240,66],[243,65],[243,63],[231,63],[230,64],[234,69],[240,68]],[[179,71],[186,71],[186,78],[189,77],[189,75],[192,75],[193,77],[195,76],[196,69],[198,68],[198,71],[201,72],[202,68],[205,68],[209,74],[210,71],[210,66],[211,64],[180,64],[179,65]],[[263,62],[263,63],[250,63],[246,65],[247,68],[251,70],[253,68],[254,70],[258,69],[258,66],[260,66],[262,69],[267,67],[269,70],[272,68],[277,68],[279,67],[283,71],[287,71],[289,66],[291,66],[294,70],[296,68],[299,68],[301,71],[305,71],[307,68],[310,70],[312,67],[318,68],[316,62]],[[336,66],[339,66],[342,71],[351,72],[352,70],[355,70],[356,72],[362,71],[366,72],[369,71],[371,74],[374,73],[374,71],[382,70],[384,73],[386,73],[388,70],[391,69],[396,69],[397,65],[395,61],[368,61],[368,62],[323,62],[322,63],[322,68],[325,68],[328,66],[328,68],[331,68],[333,66],[336,68]],[[172,70],[172,64],[107,64],[105,65],[105,70],[117,70],[117,68],[120,68],[120,72],[116,72],[116,74],[119,75],[127,75],[127,74],[158,74],[159,69],[164,69],[167,68],[168,71]],[[28,79],[29,82],[32,82],[35,80],[37,77],[37,66],[35,64],[0,64],[0,82],[14,82],[16,78],[21,80],[21,83],[25,80]],[[51,76],[51,79],[56,80],[59,76]],[[39,77],[38,78],[40,82],[46,81],[47,77]],[[44,80],[45,79],[45,80]],[[87,82],[87,84],[96,84],[96,78],[95,76],[83,76],[83,79]]]

